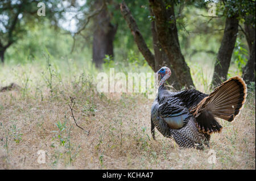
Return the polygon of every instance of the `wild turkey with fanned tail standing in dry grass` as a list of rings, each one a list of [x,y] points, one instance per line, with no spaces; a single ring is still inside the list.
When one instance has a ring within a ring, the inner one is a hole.
[[[163,67],[157,73],[161,80],[151,108],[154,140],[156,127],[163,136],[174,138],[183,148],[209,147],[210,134],[220,133],[222,129],[214,117],[233,121],[246,100],[246,84],[238,76],[221,83],[207,95],[194,89],[168,91],[164,82],[170,77],[171,70]]]

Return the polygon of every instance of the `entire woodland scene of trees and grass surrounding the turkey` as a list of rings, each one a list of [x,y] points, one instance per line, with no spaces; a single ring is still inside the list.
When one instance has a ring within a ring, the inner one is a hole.
[[[3,0],[0,58],[0,169],[255,169],[255,1]],[[96,91],[110,68],[162,66],[172,90],[246,81],[240,117],[212,137],[216,164],[209,150],[152,140],[146,93]]]

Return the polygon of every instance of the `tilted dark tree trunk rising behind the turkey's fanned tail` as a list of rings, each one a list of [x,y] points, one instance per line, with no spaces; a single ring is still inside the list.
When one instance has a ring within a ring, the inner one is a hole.
[[[234,45],[236,44],[237,33],[237,16],[226,18],[224,35],[221,41],[220,49],[218,50],[217,60],[214,65],[214,73],[212,78],[213,87],[216,87],[223,81],[226,81]]]

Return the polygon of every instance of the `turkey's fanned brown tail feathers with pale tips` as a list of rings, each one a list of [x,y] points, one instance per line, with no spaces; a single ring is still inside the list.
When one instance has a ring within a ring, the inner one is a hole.
[[[243,108],[246,101],[247,88],[241,77],[232,77],[221,83],[209,96],[201,100],[191,109],[200,131],[220,132],[221,125],[215,119],[205,119],[205,114],[210,113],[227,121],[233,121]],[[202,119],[204,117],[204,119]],[[202,129],[202,127],[204,129]],[[213,128],[214,127],[214,128]],[[209,132],[208,132],[209,133]]]

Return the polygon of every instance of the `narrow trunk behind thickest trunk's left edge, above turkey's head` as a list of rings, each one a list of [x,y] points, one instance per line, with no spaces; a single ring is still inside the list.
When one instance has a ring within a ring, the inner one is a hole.
[[[153,15],[152,12],[151,12],[151,15]],[[158,35],[155,30],[154,20],[151,22],[151,32],[152,32],[153,46],[154,46],[154,52],[155,52],[155,71],[158,71],[163,66],[167,66],[168,68],[170,68],[172,75],[171,75],[171,78],[167,79],[167,82],[176,90],[180,90],[182,87],[180,86],[179,80],[175,75],[175,72],[170,64],[170,61],[168,60],[168,56],[166,52],[164,52],[164,50],[162,49],[162,46],[159,43]]]

